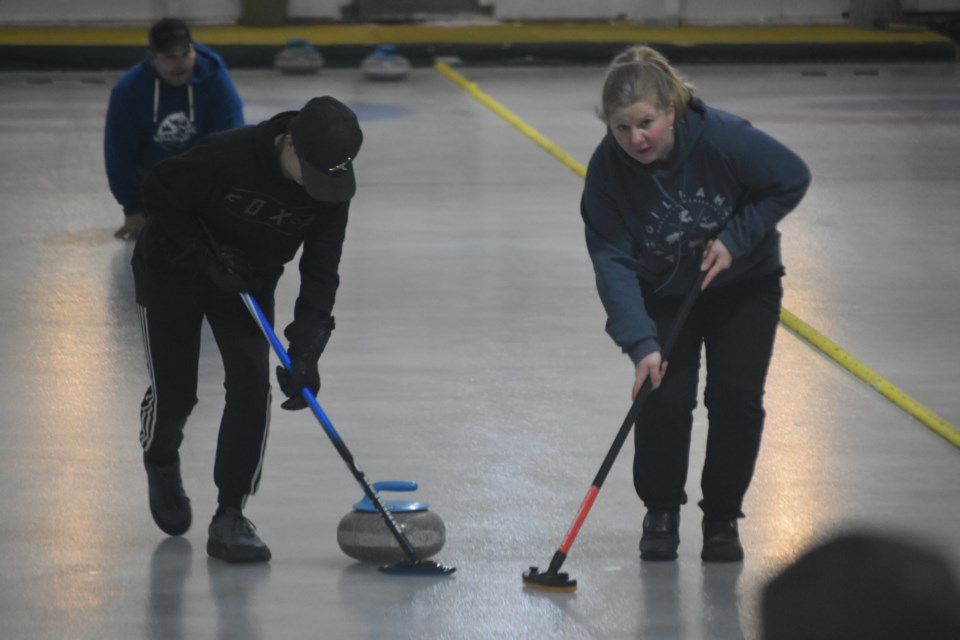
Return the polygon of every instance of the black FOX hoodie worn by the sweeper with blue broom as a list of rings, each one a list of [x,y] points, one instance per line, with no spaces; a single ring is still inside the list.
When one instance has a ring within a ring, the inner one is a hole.
[[[157,164],[144,181],[148,224],[136,247],[148,270],[199,277],[216,242],[239,250],[254,277],[279,277],[303,245],[292,342],[331,316],[350,207],[314,200],[283,176],[275,140],[295,115],[213,134]]]

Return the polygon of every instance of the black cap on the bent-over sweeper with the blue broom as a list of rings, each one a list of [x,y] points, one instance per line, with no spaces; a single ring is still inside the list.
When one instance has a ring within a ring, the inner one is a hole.
[[[330,96],[313,98],[290,122],[303,186],[312,198],[345,202],[357,192],[353,160],[363,132],[357,114]]]

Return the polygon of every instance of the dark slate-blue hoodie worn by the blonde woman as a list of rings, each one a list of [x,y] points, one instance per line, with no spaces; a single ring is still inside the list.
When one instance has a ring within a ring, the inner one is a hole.
[[[782,270],[776,225],[810,184],[795,153],[699,100],[674,130],[673,159],[657,167],[627,155],[608,130],[580,203],[607,333],[634,363],[660,350],[640,284],[657,295],[686,293],[714,237],[733,264],[711,289]]]

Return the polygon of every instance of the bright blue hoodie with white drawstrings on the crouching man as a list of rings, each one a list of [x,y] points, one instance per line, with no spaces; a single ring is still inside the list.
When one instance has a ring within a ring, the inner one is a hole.
[[[143,213],[140,184],[153,165],[208,134],[244,124],[243,103],[223,60],[194,46],[197,60],[186,86],[170,86],[144,59],[110,93],[103,153],[110,191],[125,215]]]

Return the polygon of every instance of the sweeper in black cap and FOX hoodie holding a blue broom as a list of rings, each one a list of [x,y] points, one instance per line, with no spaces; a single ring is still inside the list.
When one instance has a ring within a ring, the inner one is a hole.
[[[207,552],[228,562],[270,559],[242,513],[263,469],[270,416],[269,345],[240,292],[274,319],[284,264],[303,249],[289,340],[292,373],[278,368],[285,409],[320,389],[317,362],[334,328],[333,304],[363,134],[329,96],[258,125],[213,134],[157,164],[144,181],[147,225],[133,255],[150,387],[140,443],[150,511],[169,535],[190,527],[180,475],[183,428],[197,402],[200,333],[206,318],[223,358],[226,404],[214,481],[218,508]]]

